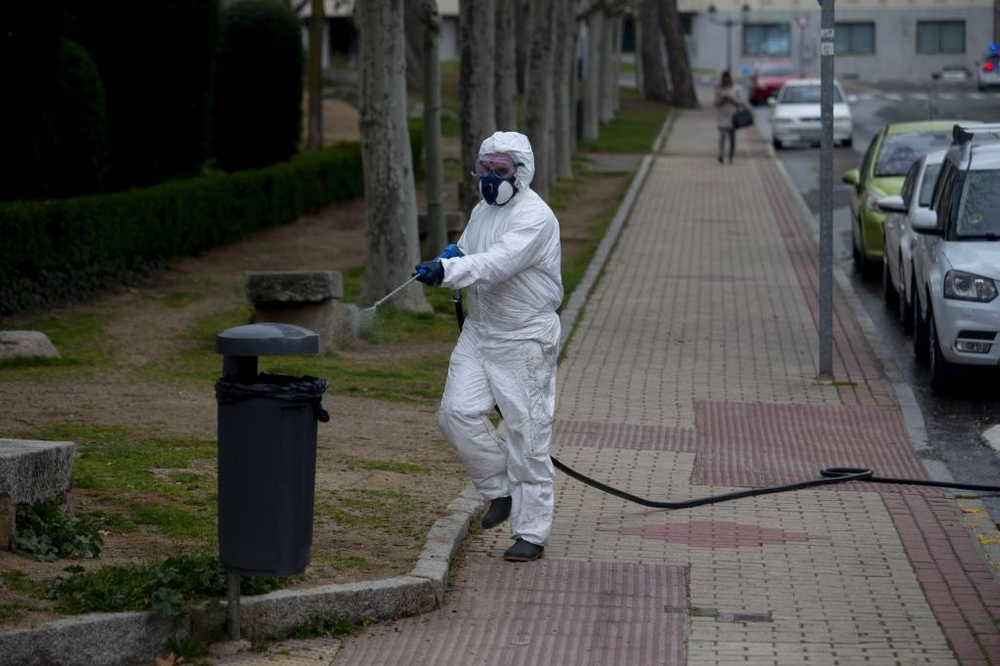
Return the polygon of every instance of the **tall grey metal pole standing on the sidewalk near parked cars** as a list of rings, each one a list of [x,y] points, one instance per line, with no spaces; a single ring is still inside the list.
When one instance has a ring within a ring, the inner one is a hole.
[[[833,378],[833,45],[834,0],[819,0],[819,375]]]

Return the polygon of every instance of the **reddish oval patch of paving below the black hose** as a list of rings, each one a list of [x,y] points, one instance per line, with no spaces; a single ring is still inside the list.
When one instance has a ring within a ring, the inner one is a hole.
[[[617,528],[617,532],[643,539],[686,543],[695,548],[742,548],[813,539],[804,532],[790,532],[773,527],[722,521],[627,526]]]

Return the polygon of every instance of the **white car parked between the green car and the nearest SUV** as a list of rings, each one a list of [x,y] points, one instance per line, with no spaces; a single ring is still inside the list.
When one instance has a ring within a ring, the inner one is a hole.
[[[913,163],[899,194],[878,199],[886,215],[882,221],[882,292],[886,306],[899,314],[907,333],[913,331],[913,247],[917,235],[910,227],[914,215],[928,210],[944,150],[924,153]]]

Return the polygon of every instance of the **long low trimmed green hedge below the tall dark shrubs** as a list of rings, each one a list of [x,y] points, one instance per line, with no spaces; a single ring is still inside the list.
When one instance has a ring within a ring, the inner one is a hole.
[[[360,144],[344,143],[266,169],[0,204],[0,314],[134,282],[164,259],[293,222],[363,187]]]

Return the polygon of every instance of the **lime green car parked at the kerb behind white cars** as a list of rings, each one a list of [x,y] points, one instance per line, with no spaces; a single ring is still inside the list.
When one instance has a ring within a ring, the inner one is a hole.
[[[875,202],[899,194],[903,178],[924,153],[951,145],[956,124],[978,124],[969,120],[933,120],[890,123],[875,134],[861,166],[844,173],[851,185],[851,237],[854,264],[862,276],[881,275],[884,246],[882,220],[885,214]]]

